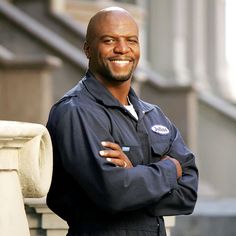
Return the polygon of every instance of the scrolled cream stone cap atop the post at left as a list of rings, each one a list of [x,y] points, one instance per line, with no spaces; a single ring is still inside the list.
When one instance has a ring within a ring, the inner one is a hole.
[[[15,155],[13,161],[24,197],[43,197],[47,194],[52,176],[52,145],[45,126],[17,121],[0,121],[0,161]],[[6,170],[6,167],[4,168]],[[9,167],[10,170],[10,167]]]

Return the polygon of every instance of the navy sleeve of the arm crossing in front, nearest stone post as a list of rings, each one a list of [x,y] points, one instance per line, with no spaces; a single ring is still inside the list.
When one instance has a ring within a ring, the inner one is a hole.
[[[124,169],[99,156],[101,141],[114,141],[104,119],[92,109],[62,106],[52,110],[47,124],[56,158],[95,204],[112,213],[139,209],[179,186],[170,160]]]

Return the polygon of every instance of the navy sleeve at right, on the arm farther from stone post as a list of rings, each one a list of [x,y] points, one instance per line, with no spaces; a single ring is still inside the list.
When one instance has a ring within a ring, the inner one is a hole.
[[[197,200],[198,169],[194,154],[186,147],[179,131],[172,125],[173,142],[167,155],[179,160],[182,177],[169,194],[163,196],[148,211],[156,216],[191,214]]]

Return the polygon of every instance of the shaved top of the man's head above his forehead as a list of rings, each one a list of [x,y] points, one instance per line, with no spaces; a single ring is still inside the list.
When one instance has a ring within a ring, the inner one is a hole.
[[[88,23],[88,27],[87,27],[86,41],[90,42],[92,39],[94,39],[101,25],[106,22],[109,22],[111,18],[115,20],[117,19],[117,21],[120,21],[121,18],[122,19],[126,18],[128,21],[132,21],[133,24],[136,25],[137,30],[138,30],[138,26],[134,18],[131,16],[131,14],[128,11],[120,7],[107,7],[98,11],[90,19]]]

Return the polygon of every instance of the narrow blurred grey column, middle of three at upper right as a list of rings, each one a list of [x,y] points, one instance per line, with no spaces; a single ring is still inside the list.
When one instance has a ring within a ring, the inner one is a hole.
[[[187,2],[187,67],[198,90],[209,90],[207,77],[207,1]]]

